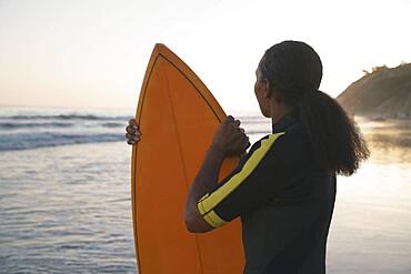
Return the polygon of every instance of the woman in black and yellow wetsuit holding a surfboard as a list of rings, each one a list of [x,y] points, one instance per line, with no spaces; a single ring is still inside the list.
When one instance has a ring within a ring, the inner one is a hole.
[[[254,143],[240,122],[219,126],[191,184],[190,232],[209,232],[240,216],[247,274],[324,273],[335,174],[351,175],[369,150],[335,100],[319,91],[322,64],[308,44],[284,41],[265,51],[254,92],[272,134]],[[133,121],[129,143],[140,138]],[[224,158],[243,155],[218,183]]]

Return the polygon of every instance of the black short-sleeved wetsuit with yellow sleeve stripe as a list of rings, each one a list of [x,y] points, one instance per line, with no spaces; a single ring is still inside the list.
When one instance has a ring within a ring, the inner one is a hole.
[[[241,217],[245,274],[319,274],[325,273],[334,200],[335,173],[318,168],[290,113],[198,207],[214,227]]]

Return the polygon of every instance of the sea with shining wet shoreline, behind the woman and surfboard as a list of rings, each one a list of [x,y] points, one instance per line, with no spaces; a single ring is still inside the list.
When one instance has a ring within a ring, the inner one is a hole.
[[[258,113],[233,113],[257,141]],[[131,110],[0,108],[0,273],[136,273]],[[357,119],[371,159],[339,176],[328,273],[411,273],[411,121]]]

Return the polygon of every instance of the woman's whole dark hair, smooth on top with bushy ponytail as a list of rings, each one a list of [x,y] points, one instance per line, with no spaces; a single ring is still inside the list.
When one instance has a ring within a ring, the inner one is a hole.
[[[320,166],[351,175],[370,155],[355,124],[331,97],[319,90],[322,63],[307,43],[283,41],[265,51],[260,72],[304,125]]]

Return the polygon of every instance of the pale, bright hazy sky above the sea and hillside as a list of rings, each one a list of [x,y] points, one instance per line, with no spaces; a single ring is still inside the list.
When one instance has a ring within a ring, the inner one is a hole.
[[[411,62],[410,27],[407,0],[0,0],[0,105],[136,109],[158,42],[225,110],[258,110],[257,64],[283,40],[315,49],[337,97],[363,70]]]

